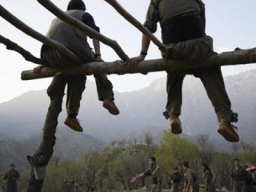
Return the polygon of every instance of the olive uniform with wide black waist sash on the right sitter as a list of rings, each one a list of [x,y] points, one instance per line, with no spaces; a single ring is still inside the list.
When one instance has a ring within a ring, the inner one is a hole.
[[[160,22],[162,42],[169,50],[163,57],[193,61],[216,54],[213,39],[205,34],[205,20],[205,8],[201,0],[151,0],[144,26],[154,33]],[[181,114],[183,79],[186,74],[194,74],[201,79],[218,121],[234,121],[220,67],[166,72],[167,114]]]

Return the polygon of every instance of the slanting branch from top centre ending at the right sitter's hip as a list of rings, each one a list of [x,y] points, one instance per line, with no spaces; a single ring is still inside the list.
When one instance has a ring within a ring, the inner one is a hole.
[[[138,30],[140,30],[143,34],[145,34],[146,37],[150,38],[150,40],[154,42],[156,46],[158,46],[159,50],[161,50],[164,53],[167,51],[166,46],[162,45],[162,42],[160,42],[158,38],[154,36],[154,34],[152,34],[148,29],[146,29],[145,26],[143,26],[140,22],[138,22],[136,18],[134,18],[131,14],[129,14],[116,0],[104,0],[104,1],[108,2],[110,6],[113,6],[114,9],[117,10],[118,13],[122,15],[122,17],[126,18],[128,22],[130,22],[133,26],[135,26]]]

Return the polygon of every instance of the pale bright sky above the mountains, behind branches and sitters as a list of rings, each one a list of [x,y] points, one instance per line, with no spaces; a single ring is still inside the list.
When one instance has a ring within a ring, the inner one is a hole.
[[[66,10],[67,0],[52,0],[56,6]],[[141,50],[142,34],[112,6],[103,0],[84,0],[87,12],[93,15],[96,25],[106,37],[116,40],[129,57],[135,57]],[[146,10],[150,0],[119,0],[118,1],[139,22],[144,22]],[[214,38],[214,50],[217,52],[234,50],[236,47],[250,49],[256,46],[256,1],[255,0],[205,0],[206,4],[206,34]],[[26,25],[34,28],[41,34],[46,34],[50,22],[55,18],[43,6],[35,0],[0,0],[1,6],[9,10]],[[155,36],[161,39],[160,28]],[[18,43],[24,49],[39,57],[42,42],[24,34],[9,22],[0,17],[0,34]],[[91,40],[89,39],[90,45]],[[102,58],[111,62],[120,60],[118,55],[109,46],[101,44]],[[161,54],[153,43],[146,59],[161,58]],[[22,81],[22,70],[32,70],[34,63],[27,62],[21,54],[12,50],[6,50],[6,46],[0,44],[0,103],[7,102],[29,90],[43,90],[49,86],[52,78],[43,78],[30,81]],[[224,76],[238,74],[245,70],[256,69],[256,64],[224,66]],[[166,72],[155,72],[147,75],[124,74],[108,75],[118,92],[140,90],[149,86],[157,78],[166,77]],[[93,77],[89,77],[94,80]]]

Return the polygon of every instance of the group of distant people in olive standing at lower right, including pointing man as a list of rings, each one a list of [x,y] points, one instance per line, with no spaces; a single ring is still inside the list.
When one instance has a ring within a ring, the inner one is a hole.
[[[230,170],[230,190],[233,192],[256,192],[256,166],[240,166],[238,158],[234,158],[234,166]],[[149,187],[150,192],[162,191],[162,170],[157,165],[156,159],[148,159],[149,168],[130,179],[130,182],[136,182],[138,178],[151,176],[152,182]],[[214,174],[210,167],[202,163],[202,181],[199,182],[198,174],[189,166],[189,162],[183,162],[182,170],[174,168],[170,175],[172,192],[198,192],[200,186],[206,192],[216,191],[214,184]],[[202,183],[202,184],[201,184]]]

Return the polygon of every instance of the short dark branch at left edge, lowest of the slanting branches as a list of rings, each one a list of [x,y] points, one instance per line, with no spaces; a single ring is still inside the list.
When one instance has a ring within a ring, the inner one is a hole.
[[[25,58],[26,61],[34,62],[34,63],[40,64],[40,65],[47,65],[46,60],[44,60],[42,58],[34,57],[34,55],[30,54],[29,51],[24,50],[21,46],[18,46],[17,43],[10,41],[10,39],[4,38],[1,34],[0,34],[0,43],[6,45],[7,50],[14,50],[14,51],[18,52],[19,54],[22,54],[22,57]]]

